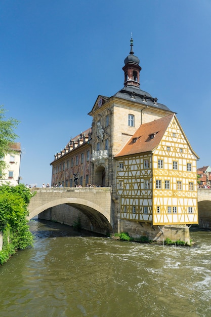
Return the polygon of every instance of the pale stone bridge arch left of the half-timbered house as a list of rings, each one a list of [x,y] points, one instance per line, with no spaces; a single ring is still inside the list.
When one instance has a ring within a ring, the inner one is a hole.
[[[32,188],[31,192],[36,194],[28,206],[28,220],[39,215],[41,219],[71,225],[80,215],[89,219],[89,225],[83,228],[99,233],[113,231],[110,187]]]

